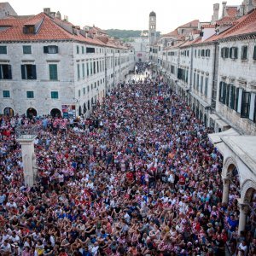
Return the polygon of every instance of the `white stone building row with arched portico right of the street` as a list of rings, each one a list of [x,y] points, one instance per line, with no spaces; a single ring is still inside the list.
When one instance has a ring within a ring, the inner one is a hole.
[[[195,116],[215,131],[209,138],[224,158],[224,202],[229,201],[230,183],[239,181],[240,232],[247,213],[255,210],[256,1],[240,6],[223,2],[218,16],[214,4],[211,21],[190,31],[187,25],[178,27],[166,47],[158,40],[151,60]]]

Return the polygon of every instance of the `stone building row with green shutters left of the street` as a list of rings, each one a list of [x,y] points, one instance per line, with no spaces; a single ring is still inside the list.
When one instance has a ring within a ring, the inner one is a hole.
[[[50,9],[0,26],[0,113],[89,114],[134,67],[133,49]]]

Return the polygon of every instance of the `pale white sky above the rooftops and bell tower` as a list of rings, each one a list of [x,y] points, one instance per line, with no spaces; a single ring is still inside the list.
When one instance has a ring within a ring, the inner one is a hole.
[[[3,0],[4,1],[4,0]],[[6,0],[18,15],[35,15],[49,7],[77,26],[98,26],[102,29],[147,30],[148,15],[156,13],[156,30],[171,32],[191,20],[210,21],[213,3],[222,0]],[[239,5],[242,0],[230,0]]]

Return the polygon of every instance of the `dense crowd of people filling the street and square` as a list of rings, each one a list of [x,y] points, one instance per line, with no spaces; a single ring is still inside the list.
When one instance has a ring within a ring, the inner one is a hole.
[[[90,119],[1,117],[1,255],[221,256],[226,242],[233,255],[255,255],[253,219],[237,234],[236,188],[221,202],[209,128],[148,73]],[[32,188],[15,141],[28,124],[40,126]]]

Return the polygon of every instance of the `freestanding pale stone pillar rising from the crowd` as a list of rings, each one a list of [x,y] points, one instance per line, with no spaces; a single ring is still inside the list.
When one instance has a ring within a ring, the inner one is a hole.
[[[21,145],[24,181],[25,185],[28,187],[32,187],[37,174],[34,173],[37,172],[36,158],[34,154],[34,138],[35,137],[22,137],[17,139]]]

